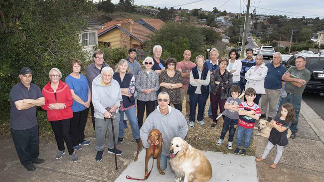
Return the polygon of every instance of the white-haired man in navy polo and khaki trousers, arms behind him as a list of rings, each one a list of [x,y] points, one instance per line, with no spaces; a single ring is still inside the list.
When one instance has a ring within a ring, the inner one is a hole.
[[[269,103],[268,120],[272,120],[275,116],[277,104],[280,98],[280,91],[283,87],[283,81],[281,77],[286,72],[286,68],[280,64],[281,53],[276,52],[273,55],[272,63],[266,64],[268,68],[267,76],[264,79],[264,89],[266,94],[261,96],[261,110],[262,114],[260,118],[266,118]]]

